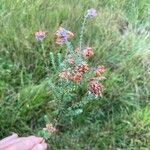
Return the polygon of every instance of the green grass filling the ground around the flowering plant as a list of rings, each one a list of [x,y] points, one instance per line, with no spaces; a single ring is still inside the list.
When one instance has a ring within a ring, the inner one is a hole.
[[[149,0],[1,0],[0,138],[16,132],[37,135],[44,116],[55,119],[57,104],[47,82],[57,80],[50,52],[60,24],[79,41],[82,14],[96,8],[84,43],[94,49],[89,62],[105,65],[103,98],[92,101],[71,125],[63,123],[50,149],[150,149],[150,1]],[[34,33],[43,29],[46,56]],[[47,66],[46,66],[47,64]]]

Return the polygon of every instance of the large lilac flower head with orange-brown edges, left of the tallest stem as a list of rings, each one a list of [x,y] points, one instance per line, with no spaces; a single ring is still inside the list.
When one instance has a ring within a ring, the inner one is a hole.
[[[62,27],[59,27],[59,29],[56,31],[55,36],[56,36],[55,39],[56,44],[62,45],[66,43],[67,40],[71,39],[74,36],[74,34]]]

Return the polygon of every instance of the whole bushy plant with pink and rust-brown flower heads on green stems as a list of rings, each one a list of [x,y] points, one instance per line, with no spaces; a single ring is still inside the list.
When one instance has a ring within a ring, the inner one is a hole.
[[[59,27],[55,32],[55,43],[64,45],[66,52],[63,61],[61,54],[58,54],[58,66],[55,63],[54,55],[51,52],[51,62],[53,69],[57,75],[57,83],[49,80],[51,93],[54,101],[57,103],[54,111],[54,120],[58,124],[72,122],[74,116],[83,112],[84,107],[95,98],[102,97],[103,86],[101,81],[105,79],[102,75],[105,72],[105,67],[90,67],[88,61],[94,57],[94,50],[89,46],[83,46],[83,34],[87,19],[97,16],[95,9],[89,9],[84,15],[79,45],[73,48],[70,40],[74,34]],[[37,32],[36,39],[42,41],[45,38],[44,32]],[[41,37],[41,35],[43,35]],[[41,39],[42,38],[42,39]]]

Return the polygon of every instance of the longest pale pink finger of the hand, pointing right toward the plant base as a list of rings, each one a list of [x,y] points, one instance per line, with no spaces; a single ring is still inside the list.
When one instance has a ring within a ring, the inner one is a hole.
[[[5,148],[5,150],[27,150],[33,148],[36,144],[41,143],[42,140],[43,138],[35,136],[22,137],[6,143],[2,148]]]

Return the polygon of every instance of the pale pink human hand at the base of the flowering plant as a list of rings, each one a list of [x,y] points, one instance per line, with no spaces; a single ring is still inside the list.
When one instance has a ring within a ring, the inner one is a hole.
[[[46,150],[44,139],[36,136],[18,137],[13,134],[0,141],[0,150]]]

